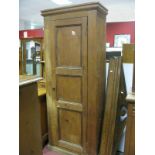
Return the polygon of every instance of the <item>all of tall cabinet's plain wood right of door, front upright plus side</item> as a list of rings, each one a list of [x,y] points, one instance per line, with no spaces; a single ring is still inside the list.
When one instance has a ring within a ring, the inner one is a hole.
[[[105,15],[88,16],[88,154],[96,155],[105,100]]]

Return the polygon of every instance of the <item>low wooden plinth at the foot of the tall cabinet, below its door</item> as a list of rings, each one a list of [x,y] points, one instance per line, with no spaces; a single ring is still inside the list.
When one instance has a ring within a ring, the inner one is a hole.
[[[72,152],[69,152],[67,150],[56,147],[56,146],[51,146],[50,144],[48,144],[47,147],[48,147],[49,150],[55,151],[57,153],[62,153],[63,155],[79,155],[77,153],[72,153]]]

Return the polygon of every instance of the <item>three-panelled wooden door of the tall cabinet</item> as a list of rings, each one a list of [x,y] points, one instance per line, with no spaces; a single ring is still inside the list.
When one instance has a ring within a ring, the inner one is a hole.
[[[51,143],[85,154],[87,128],[87,17],[50,21]],[[50,70],[49,70],[50,72]],[[47,73],[48,75],[48,73]],[[50,75],[50,73],[49,73]],[[47,78],[50,78],[47,76]],[[48,80],[48,79],[47,79]],[[49,106],[50,107],[50,106]]]

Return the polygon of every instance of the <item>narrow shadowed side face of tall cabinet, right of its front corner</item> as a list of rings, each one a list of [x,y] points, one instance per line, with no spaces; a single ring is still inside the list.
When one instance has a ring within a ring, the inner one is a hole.
[[[104,116],[105,108],[105,74],[106,74],[106,17],[98,13],[97,16],[97,82],[98,82],[98,95],[97,95],[97,147],[99,149],[101,137],[101,123]]]

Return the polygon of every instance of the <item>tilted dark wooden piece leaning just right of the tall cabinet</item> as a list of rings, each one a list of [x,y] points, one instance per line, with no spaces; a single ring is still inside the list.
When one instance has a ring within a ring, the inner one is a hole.
[[[115,155],[126,123],[127,103],[121,57],[110,59],[99,155]]]

